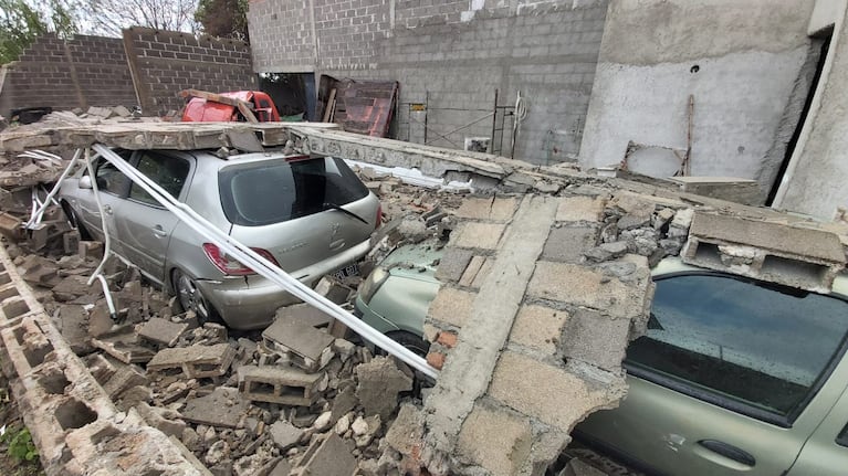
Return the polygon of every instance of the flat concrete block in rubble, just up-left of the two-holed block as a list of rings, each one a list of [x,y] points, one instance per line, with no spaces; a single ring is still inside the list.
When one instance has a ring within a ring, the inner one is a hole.
[[[147,371],[184,373],[190,379],[220,377],[227,373],[234,357],[235,349],[229,343],[163,349],[147,363]]]

